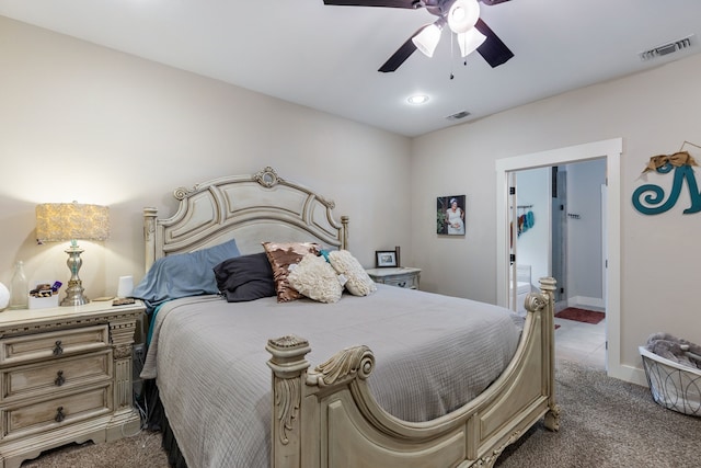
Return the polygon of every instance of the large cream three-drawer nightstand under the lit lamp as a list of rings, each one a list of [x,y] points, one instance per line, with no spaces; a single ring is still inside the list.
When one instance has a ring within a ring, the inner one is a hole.
[[[131,349],[143,310],[93,301],[0,313],[0,467],[139,431]]]

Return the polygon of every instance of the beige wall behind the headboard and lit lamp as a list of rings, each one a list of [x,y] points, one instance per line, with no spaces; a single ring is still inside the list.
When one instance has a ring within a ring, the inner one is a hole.
[[[411,260],[409,138],[0,16],[0,282],[69,272],[64,244],[37,246],[34,207],[105,204],[112,237],[85,249],[89,297],[143,274],[141,210],[173,190],[265,165],[336,203],[364,265],[375,250]],[[392,207],[390,210],[390,206]],[[399,215],[399,216],[398,216]]]

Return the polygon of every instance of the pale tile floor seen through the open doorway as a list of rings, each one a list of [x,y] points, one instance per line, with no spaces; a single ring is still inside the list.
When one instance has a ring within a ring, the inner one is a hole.
[[[583,308],[604,311],[604,309],[594,307]],[[606,368],[606,320],[590,324],[555,317],[555,324],[560,326],[555,330],[556,359],[564,358],[593,367]]]

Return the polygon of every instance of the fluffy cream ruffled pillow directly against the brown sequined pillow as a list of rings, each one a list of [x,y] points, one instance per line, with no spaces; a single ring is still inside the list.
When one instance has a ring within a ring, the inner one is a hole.
[[[287,275],[290,286],[320,303],[337,303],[343,294],[338,275],[323,256],[308,253]]]

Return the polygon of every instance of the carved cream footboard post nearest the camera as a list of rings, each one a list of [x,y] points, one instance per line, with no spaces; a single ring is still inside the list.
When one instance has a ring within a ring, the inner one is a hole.
[[[274,468],[302,467],[300,406],[311,351],[303,338],[287,335],[268,340],[265,349],[273,355],[273,432],[271,464]]]

